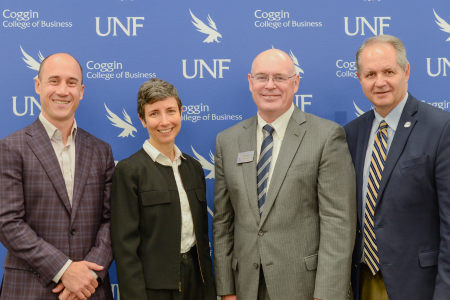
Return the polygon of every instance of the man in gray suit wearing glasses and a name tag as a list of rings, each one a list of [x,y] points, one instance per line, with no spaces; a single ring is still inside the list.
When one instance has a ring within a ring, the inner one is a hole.
[[[259,54],[248,81],[258,114],[216,142],[218,295],[347,299],[356,200],[345,132],[293,104],[300,77],[286,53]]]

